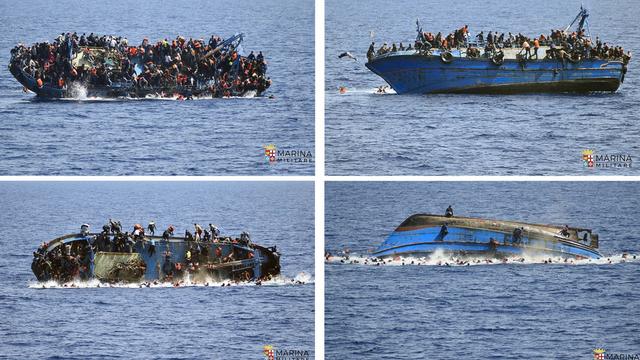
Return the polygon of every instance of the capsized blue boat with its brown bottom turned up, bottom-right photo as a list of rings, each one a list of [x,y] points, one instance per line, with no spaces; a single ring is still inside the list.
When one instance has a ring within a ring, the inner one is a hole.
[[[602,257],[598,235],[590,229],[430,214],[410,216],[373,255],[428,257],[436,251],[483,257]]]

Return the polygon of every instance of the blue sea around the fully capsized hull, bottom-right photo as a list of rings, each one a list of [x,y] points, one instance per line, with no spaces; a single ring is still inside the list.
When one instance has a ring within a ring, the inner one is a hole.
[[[432,182],[326,185],[327,250],[366,257],[409,215],[590,227],[595,263],[325,266],[327,359],[592,359],[640,354],[640,184]],[[611,264],[609,264],[609,259]],[[639,355],[640,356],[640,355]]]

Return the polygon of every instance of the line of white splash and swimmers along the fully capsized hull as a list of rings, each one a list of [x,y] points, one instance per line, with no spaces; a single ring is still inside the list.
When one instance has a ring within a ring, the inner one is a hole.
[[[640,263],[640,255],[616,254],[600,259],[566,259],[548,256],[519,256],[511,258],[487,257],[455,257],[445,254],[438,249],[429,257],[396,257],[393,259],[378,259],[363,255],[328,256],[327,264],[349,264],[363,266],[478,266],[478,265],[530,265],[530,264],[558,264],[558,265],[615,265],[622,263]]]

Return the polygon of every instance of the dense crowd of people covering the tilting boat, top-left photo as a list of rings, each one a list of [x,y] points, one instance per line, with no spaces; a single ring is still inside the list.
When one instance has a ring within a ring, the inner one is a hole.
[[[80,82],[123,88],[131,96],[222,97],[264,92],[271,79],[266,76],[262,52],[243,57],[233,40],[178,36],[155,43],[145,38],[140,45],[130,46],[123,37],[66,33],[52,43],[19,44],[11,50],[11,64],[34,78],[38,87],[66,89]],[[80,57],[83,61],[74,61]]]

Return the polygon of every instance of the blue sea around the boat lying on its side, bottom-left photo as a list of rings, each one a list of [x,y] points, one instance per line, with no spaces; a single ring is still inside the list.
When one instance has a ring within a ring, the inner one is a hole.
[[[0,358],[262,359],[263,346],[314,347],[312,182],[0,183]],[[108,218],[247,230],[277,245],[282,278],[262,286],[45,288],[40,242]],[[304,284],[292,284],[299,280]]]

